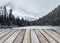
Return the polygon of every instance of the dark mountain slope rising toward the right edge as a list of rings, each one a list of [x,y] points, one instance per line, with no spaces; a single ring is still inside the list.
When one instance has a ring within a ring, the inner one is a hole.
[[[60,5],[47,15],[31,22],[32,25],[60,25]]]

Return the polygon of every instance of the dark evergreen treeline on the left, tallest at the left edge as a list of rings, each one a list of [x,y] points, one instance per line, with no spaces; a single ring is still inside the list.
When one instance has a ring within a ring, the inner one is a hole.
[[[19,17],[15,18],[12,14],[13,10],[10,9],[7,11],[6,6],[0,7],[0,25],[8,25],[8,26],[27,26],[30,25],[29,21],[19,19]]]

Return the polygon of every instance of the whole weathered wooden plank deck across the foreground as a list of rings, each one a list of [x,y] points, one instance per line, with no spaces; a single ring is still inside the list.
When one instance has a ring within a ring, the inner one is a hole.
[[[60,29],[0,29],[0,43],[60,43]]]

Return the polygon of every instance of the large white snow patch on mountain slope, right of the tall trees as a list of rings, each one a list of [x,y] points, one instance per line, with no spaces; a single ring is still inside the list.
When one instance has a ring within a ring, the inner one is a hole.
[[[20,19],[24,18],[25,20],[28,21],[34,21],[37,19],[33,15],[27,15],[27,14],[19,13],[17,11],[13,11],[13,15],[15,15],[15,17],[19,17]]]

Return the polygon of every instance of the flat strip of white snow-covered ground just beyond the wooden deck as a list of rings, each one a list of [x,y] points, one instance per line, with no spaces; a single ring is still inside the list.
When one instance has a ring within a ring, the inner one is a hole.
[[[60,26],[25,26],[25,27],[16,27],[13,29],[60,29]]]

